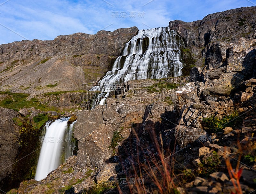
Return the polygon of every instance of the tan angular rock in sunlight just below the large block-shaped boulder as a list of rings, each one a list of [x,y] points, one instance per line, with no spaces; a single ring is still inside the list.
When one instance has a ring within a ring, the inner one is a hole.
[[[116,178],[115,175],[118,172],[118,168],[120,168],[118,167],[118,163],[106,164],[96,176],[97,184],[100,182],[111,181],[111,179]]]

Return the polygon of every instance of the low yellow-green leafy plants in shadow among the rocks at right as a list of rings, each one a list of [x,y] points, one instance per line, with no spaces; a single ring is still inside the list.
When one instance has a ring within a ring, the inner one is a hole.
[[[242,119],[234,112],[223,119],[217,117],[204,118],[201,123],[205,131],[209,133],[221,132],[225,127],[236,127],[241,124]]]

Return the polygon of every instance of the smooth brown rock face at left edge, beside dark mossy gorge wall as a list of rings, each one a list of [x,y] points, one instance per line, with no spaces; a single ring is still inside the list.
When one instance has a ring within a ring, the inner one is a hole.
[[[11,109],[0,107],[0,187],[4,188],[7,176],[12,174],[18,155],[19,127],[12,119],[18,116]]]

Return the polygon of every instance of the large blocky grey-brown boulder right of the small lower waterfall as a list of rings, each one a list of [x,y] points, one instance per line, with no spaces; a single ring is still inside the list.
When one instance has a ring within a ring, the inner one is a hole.
[[[74,137],[78,139],[77,164],[80,167],[100,167],[113,151],[109,149],[113,132],[121,119],[112,110],[80,111]]]

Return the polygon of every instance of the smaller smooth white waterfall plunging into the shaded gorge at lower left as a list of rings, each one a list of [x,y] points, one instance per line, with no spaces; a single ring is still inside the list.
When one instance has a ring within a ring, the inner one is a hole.
[[[72,132],[76,121],[68,127],[69,118],[57,119],[54,122],[48,121],[45,125],[45,136],[36,167],[35,180],[44,179],[49,172],[56,169],[61,163],[63,145],[65,159],[72,155]]]

